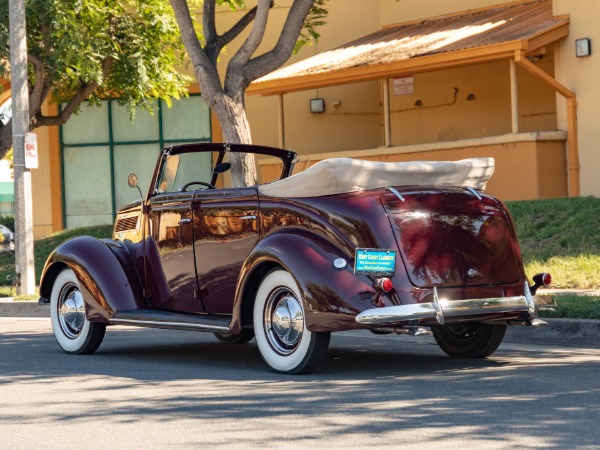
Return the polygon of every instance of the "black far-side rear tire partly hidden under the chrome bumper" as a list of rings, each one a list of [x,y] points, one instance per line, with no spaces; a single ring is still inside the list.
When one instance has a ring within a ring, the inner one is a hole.
[[[432,327],[440,348],[452,358],[485,358],[493,354],[504,339],[506,325],[456,323]]]

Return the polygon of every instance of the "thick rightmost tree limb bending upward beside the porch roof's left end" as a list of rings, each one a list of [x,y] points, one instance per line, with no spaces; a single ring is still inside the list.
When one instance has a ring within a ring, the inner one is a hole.
[[[314,0],[295,0],[292,3],[275,47],[246,64],[244,71],[248,84],[281,67],[289,59],[296,46],[296,38],[300,35],[314,2]]]

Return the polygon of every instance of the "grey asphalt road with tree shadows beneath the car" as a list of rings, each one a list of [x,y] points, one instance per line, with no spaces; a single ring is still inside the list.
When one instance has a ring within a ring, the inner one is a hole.
[[[111,328],[64,354],[48,319],[0,318],[0,448],[600,448],[600,350],[339,333],[305,376],[256,345]]]

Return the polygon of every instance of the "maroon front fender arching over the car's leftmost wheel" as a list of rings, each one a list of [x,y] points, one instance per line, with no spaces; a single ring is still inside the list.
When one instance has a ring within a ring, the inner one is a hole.
[[[48,257],[40,280],[40,296],[50,299],[58,273],[75,273],[91,321],[109,322],[119,310],[147,307],[139,277],[125,246],[119,242],[80,236],[65,241]]]

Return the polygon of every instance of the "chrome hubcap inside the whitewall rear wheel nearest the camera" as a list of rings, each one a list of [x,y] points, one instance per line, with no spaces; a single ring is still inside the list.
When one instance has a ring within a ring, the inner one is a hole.
[[[294,293],[275,289],[265,304],[265,329],[269,345],[280,355],[296,351],[304,331],[304,311]]]

